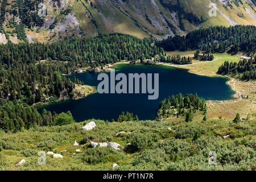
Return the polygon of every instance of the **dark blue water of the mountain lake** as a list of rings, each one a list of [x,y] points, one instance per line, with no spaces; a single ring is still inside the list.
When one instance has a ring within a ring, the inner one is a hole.
[[[148,100],[148,94],[99,94],[95,93],[81,100],[58,102],[39,108],[56,113],[71,111],[77,122],[85,119],[117,119],[122,111],[137,114],[139,119],[154,119],[159,102],[172,94],[197,93],[205,100],[231,100],[234,91],[226,84],[228,78],[207,77],[188,73],[187,70],[153,65],[115,65],[118,73],[159,73],[159,98]],[[99,73],[81,73],[75,75],[86,85],[97,86]],[[107,73],[110,75],[110,73]],[[73,77],[73,76],[68,76]],[[110,78],[110,76],[109,76]],[[118,82],[118,81],[116,81]]]

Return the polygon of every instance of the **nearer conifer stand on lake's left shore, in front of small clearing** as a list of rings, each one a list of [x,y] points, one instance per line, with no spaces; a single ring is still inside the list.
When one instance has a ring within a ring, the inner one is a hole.
[[[0,69],[0,98],[19,100],[23,105],[44,102],[52,96],[72,98],[75,84],[83,83],[61,75],[67,66],[61,63],[19,63],[13,68]]]

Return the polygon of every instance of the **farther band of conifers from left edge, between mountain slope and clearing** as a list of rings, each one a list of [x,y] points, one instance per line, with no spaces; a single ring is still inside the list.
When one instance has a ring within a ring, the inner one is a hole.
[[[160,48],[151,46],[151,40],[128,35],[103,35],[96,38],[65,38],[52,44],[0,45],[0,66],[18,63],[36,63],[39,60],[68,61],[79,67],[98,67],[119,60],[151,59]]]

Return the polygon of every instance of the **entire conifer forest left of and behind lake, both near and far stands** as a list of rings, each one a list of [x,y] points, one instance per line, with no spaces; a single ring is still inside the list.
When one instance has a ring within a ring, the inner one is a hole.
[[[62,76],[80,67],[96,68],[118,60],[151,59],[160,48],[126,35],[64,39],[52,44],[0,45],[0,98],[32,105],[47,98],[72,98],[76,78]]]

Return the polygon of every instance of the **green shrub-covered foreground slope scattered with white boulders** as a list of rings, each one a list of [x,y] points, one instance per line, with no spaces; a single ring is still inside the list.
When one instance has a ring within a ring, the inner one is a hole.
[[[253,120],[205,122],[202,118],[188,123],[183,118],[162,122],[93,120],[96,127],[89,131],[81,127],[90,121],[0,132],[0,170],[255,170]],[[126,133],[118,134],[120,131]],[[75,140],[79,146],[73,145]],[[90,142],[121,146],[119,150],[93,148]],[[53,151],[63,159],[46,155],[46,164],[38,164],[43,157],[39,151]],[[216,152],[216,163],[212,159],[212,164],[211,151]],[[26,163],[15,165],[22,159]],[[114,168],[114,163],[119,167]]]

